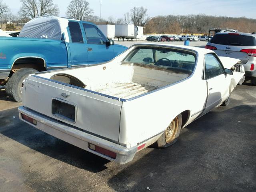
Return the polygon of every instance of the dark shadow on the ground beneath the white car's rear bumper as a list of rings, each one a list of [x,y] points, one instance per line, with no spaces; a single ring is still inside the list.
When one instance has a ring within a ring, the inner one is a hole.
[[[90,172],[100,172],[107,168],[104,165],[109,160],[86,152],[22,122],[18,118],[17,108],[0,111],[0,119],[0,134],[37,152]]]

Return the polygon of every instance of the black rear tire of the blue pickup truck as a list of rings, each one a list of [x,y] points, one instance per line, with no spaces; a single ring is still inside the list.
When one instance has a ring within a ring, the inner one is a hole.
[[[38,70],[32,68],[22,68],[16,71],[6,83],[6,93],[14,101],[22,101],[21,88],[23,86],[23,80],[32,73],[38,72]]]

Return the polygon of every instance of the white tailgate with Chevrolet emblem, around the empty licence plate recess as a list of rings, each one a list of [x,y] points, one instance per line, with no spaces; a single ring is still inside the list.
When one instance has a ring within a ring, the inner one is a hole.
[[[118,141],[122,102],[29,76],[26,81],[24,106],[84,131]]]

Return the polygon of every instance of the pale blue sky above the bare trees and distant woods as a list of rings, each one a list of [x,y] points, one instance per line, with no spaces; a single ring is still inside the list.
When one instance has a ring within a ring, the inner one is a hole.
[[[20,9],[19,0],[2,0],[14,14]],[[87,0],[94,15],[100,16],[100,1]],[[60,8],[59,16],[66,16],[70,0],[53,0]],[[133,6],[144,6],[148,16],[207,14],[215,16],[247,17],[256,19],[256,0],[102,0],[102,18],[123,18]]]

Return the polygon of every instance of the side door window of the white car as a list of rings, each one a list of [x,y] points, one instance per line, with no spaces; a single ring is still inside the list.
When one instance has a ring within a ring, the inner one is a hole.
[[[206,54],[204,56],[204,60],[206,80],[224,73],[224,68],[222,67],[222,64],[213,54]]]

